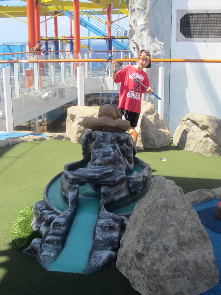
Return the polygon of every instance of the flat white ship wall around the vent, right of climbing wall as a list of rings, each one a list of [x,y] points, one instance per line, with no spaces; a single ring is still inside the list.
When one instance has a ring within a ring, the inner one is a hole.
[[[176,41],[177,10],[216,10],[221,1],[173,0],[171,58],[220,59],[221,41]],[[169,130],[173,135],[189,112],[221,119],[220,63],[172,63],[170,74]]]

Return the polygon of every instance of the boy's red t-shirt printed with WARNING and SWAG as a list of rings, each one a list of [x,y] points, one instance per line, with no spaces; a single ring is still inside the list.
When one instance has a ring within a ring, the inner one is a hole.
[[[146,88],[139,81],[146,87],[149,87],[147,74],[144,71],[136,69],[133,65],[126,65],[117,72],[114,82],[121,82],[118,108],[124,108],[127,111],[135,113],[141,112],[142,91]]]

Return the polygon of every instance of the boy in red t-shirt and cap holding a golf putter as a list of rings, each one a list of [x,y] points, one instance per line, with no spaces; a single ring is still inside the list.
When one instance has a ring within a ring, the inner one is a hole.
[[[137,142],[137,127],[138,119],[141,112],[142,93],[152,93],[152,88],[149,87],[149,79],[143,71],[144,68],[151,67],[151,55],[148,50],[140,50],[138,53],[136,65],[126,65],[123,69],[117,71],[117,62],[112,60],[113,74],[112,78],[115,83],[121,83],[119,94],[119,109],[122,118],[130,121],[130,130],[134,143]],[[146,87],[149,87],[146,89]],[[143,148],[139,148],[143,149]]]

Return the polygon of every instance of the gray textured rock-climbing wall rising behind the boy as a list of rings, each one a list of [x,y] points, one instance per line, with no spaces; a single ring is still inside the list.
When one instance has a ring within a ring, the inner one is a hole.
[[[129,44],[135,57],[141,49],[148,49],[152,58],[170,58],[172,0],[130,0],[128,5]],[[160,63],[152,63],[159,68]],[[164,121],[169,124],[169,77],[170,64],[165,67]],[[151,76],[152,68],[146,73]],[[158,92],[158,77],[150,80],[154,92]],[[157,108],[158,100],[148,95],[148,100]]]

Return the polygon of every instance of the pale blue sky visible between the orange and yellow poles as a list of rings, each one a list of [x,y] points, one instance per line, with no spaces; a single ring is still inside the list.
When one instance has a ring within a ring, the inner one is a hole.
[[[112,20],[118,16],[113,15]],[[122,17],[122,15],[120,16]],[[49,18],[49,17],[47,17]],[[20,18],[27,21],[27,18]],[[45,18],[41,17],[40,21]],[[115,22],[118,24],[118,22]],[[128,31],[128,18],[119,21],[119,26],[123,27]],[[28,42],[28,29],[25,22],[21,22],[14,18],[0,18],[0,44],[1,43],[12,43],[12,42]],[[2,29],[4,28],[4,29]],[[72,34],[74,34],[74,24],[72,22]],[[80,34],[82,37],[88,36],[87,29],[80,26]],[[47,35],[48,37],[54,36],[54,21],[53,19],[47,22]],[[58,17],[58,36],[69,36],[70,35],[70,18],[67,16]],[[41,24],[41,36],[45,36],[45,23]],[[93,36],[91,34],[91,36]]]

